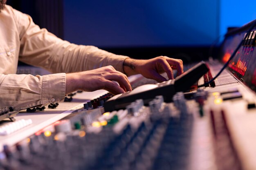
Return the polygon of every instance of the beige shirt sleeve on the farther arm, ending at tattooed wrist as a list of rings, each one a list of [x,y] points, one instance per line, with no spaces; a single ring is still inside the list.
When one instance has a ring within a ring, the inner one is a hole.
[[[124,73],[123,62],[127,56],[61,40],[46,29],[40,29],[29,15],[14,9],[13,13],[20,33],[20,61],[52,73],[87,71],[108,65]]]

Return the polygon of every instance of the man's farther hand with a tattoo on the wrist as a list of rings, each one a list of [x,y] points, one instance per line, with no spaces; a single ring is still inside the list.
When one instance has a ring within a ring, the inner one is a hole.
[[[177,75],[183,73],[183,62],[166,56],[155,57],[150,60],[135,60],[127,58],[124,60],[124,72],[126,75],[141,74],[146,78],[155,79],[157,82],[164,82],[162,73],[167,73],[169,79],[174,79],[173,69]]]

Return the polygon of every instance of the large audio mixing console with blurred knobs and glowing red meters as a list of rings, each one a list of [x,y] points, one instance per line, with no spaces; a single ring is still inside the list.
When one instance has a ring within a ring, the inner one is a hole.
[[[207,61],[188,89],[170,93],[178,78],[135,75],[143,95],[125,106],[107,91],[83,92],[1,121],[0,170],[255,170],[256,29],[246,33],[254,22],[227,33],[220,60]]]

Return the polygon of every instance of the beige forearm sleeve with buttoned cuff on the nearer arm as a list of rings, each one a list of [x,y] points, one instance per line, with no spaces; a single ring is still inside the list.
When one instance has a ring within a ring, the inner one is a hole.
[[[16,75],[0,74],[0,106],[13,106],[22,110],[64,99],[66,75]]]

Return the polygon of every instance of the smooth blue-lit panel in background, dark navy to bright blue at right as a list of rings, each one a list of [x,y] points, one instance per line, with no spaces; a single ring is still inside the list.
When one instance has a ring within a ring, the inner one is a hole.
[[[99,47],[209,46],[256,18],[238,0],[64,0],[64,39]]]

